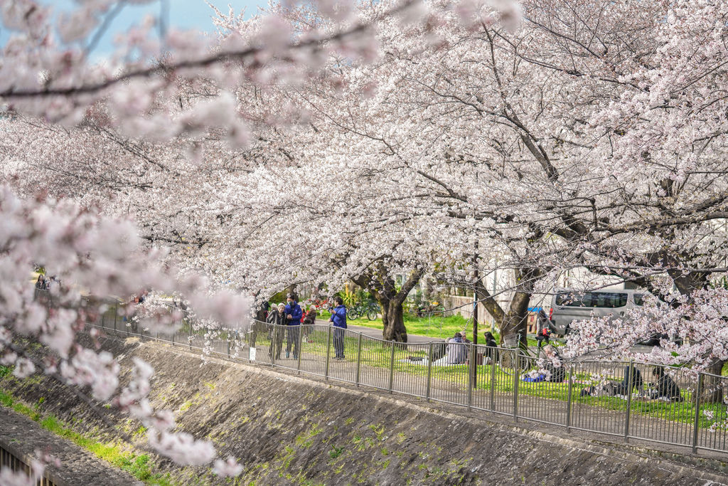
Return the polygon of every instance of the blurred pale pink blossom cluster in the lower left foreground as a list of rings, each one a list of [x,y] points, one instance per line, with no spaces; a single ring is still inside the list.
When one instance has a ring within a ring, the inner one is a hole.
[[[181,463],[202,465],[215,458],[210,442],[171,431],[173,415],[155,411],[147,395],[153,370],[135,361],[132,380],[119,385],[119,366],[106,351],[86,347],[82,332],[98,340],[88,322],[106,310],[104,299],[82,299],[84,289],[99,297],[138,294],[146,288],[181,292],[202,315],[233,321],[248,312],[240,296],[210,295],[199,278],[179,280],[159,264],[159,251],[138,253],[139,239],[130,222],[103,218],[70,199],[19,199],[8,187],[0,194],[0,360],[23,378],[36,372],[72,388],[102,416],[99,403],[114,404],[149,428],[154,450]],[[34,264],[44,262],[63,278],[39,298],[30,280]],[[206,295],[207,294],[207,295]],[[133,305],[132,305],[133,307]],[[144,325],[170,332],[181,315],[150,315]],[[98,344],[98,343],[96,343]],[[41,351],[34,350],[42,345]]]

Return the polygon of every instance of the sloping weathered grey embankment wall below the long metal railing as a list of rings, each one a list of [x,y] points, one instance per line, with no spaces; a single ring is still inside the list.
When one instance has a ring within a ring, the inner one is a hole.
[[[720,460],[612,447],[248,364],[202,364],[197,354],[155,342],[104,346],[124,367],[133,356],[154,365],[154,406],[172,409],[181,429],[239,458],[240,484],[728,484]],[[6,377],[0,386],[28,403],[44,396],[41,413],[114,439],[88,407],[50,380]],[[157,464],[183,484],[218,482],[207,469]]]

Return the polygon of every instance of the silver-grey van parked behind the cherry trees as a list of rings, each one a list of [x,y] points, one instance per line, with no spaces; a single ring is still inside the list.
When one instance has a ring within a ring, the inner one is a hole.
[[[551,331],[563,336],[569,332],[572,321],[595,317],[620,318],[630,309],[644,302],[644,290],[557,290],[551,299]]]

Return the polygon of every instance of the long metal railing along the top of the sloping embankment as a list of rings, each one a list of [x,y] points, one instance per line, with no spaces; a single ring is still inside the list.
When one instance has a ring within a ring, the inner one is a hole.
[[[632,361],[572,361],[561,370],[545,372],[543,360],[519,350],[457,344],[465,347],[458,353],[444,342],[404,344],[318,324],[252,321],[239,329],[210,331],[185,318],[174,334],[151,335],[128,321],[122,324],[117,307],[110,305],[92,324],[108,334],[162,340],[357,387],[563,426],[566,431],[691,447],[693,452],[728,452],[727,377]],[[458,355],[467,361],[448,362]],[[660,383],[665,388],[668,381],[660,382],[660,370],[675,385],[672,399],[665,393],[657,398]],[[650,386],[651,381],[657,383]]]

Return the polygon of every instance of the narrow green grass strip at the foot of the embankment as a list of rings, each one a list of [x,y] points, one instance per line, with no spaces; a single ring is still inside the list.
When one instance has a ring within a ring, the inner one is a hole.
[[[15,399],[7,391],[0,390],[0,405],[12,408],[15,412],[25,415],[34,422],[38,422],[47,431],[74,442],[79,447],[83,447],[85,450],[92,452],[96,457],[127,471],[133,477],[145,482],[147,485],[170,486],[175,484],[170,482],[168,475],[162,476],[162,474],[153,473],[156,466],[150,460],[149,455],[136,455],[133,452],[125,450],[121,444],[116,442],[98,442],[95,439],[90,439],[66,426],[55,415],[47,415],[41,419],[39,412],[36,412],[31,407]]]

